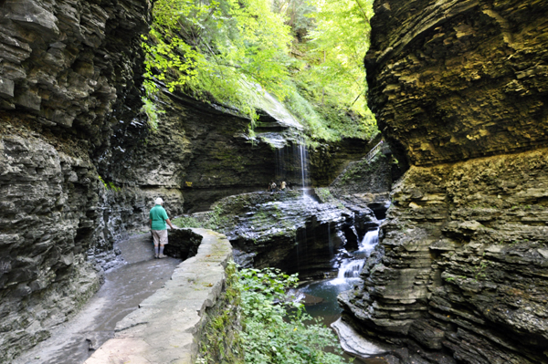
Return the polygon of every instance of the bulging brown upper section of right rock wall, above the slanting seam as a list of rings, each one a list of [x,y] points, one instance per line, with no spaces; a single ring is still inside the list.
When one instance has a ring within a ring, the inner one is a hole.
[[[377,0],[369,105],[414,165],[548,141],[548,3]]]

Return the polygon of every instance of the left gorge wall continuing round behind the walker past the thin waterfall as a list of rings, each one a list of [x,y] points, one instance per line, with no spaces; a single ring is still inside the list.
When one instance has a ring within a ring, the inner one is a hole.
[[[113,242],[142,230],[154,197],[172,217],[266,190],[278,150],[259,134],[286,133],[288,151],[299,142],[268,112],[253,139],[235,110],[166,90],[151,130],[141,35],[152,5],[0,0],[0,361],[47,338],[96,291],[119,261]],[[335,162],[310,179],[327,183],[366,145],[321,146]]]

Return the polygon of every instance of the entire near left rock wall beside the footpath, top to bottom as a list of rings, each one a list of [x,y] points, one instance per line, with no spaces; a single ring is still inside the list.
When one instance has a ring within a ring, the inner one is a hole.
[[[0,3],[0,361],[73,314],[113,240],[142,226],[142,195],[105,189],[94,161],[140,107],[149,14],[144,0]]]

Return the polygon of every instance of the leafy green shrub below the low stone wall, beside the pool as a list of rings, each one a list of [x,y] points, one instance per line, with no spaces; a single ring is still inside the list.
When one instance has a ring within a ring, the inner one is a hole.
[[[331,329],[307,324],[311,316],[291,301],[286,288],[297,275],[279,269],[242,269],[239,272],[245,362],[251,364],[339,364],[346,362]],[[335,353],[325,352],[334,348]]]

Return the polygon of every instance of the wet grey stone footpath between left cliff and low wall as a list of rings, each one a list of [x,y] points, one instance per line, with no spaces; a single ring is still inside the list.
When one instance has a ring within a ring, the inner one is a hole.
[[[79,314],[51,332],[51,338],[13,364],[79,364],[111,338],[116,323],[172,276],[180,259],[154,259],[151,234],[115,244],[126,262],[105,275],[105,283]]]

